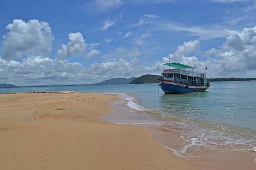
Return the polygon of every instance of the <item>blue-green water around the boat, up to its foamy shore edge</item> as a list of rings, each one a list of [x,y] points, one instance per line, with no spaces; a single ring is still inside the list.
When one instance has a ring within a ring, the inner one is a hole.
[[[206,92],[185,94],[164,94],[157,84],[0,88],[0,93],[28,91],[122,93],[129,107],[161,115],[160,124],[179,129],[194,145],[226,150],[256,147],[256,81],[212,82]]]

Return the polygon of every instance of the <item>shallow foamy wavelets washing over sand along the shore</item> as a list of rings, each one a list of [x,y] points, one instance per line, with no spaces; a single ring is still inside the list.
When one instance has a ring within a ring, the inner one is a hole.
[[[256,146],[256,133],[249,128],[170,116],[141,106],[140,100],[130,94],[112,94],[123,100],[111,105],[116,111],[103,117],[104,121],[146,127],[157,142],[175,155],[193,157],[213,151],[250,151]]]

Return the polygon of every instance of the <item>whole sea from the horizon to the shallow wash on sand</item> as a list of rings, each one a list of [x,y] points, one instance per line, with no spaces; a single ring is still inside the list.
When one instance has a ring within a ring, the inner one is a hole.
[[[0,88],[0,93],[100,92],[119,96],[106,122],[142,126],[182,157],[256,148],[256,81],[211,82],[205,92],[164,94],[158,84]],[[1,95],[0,95],[1,97]]]

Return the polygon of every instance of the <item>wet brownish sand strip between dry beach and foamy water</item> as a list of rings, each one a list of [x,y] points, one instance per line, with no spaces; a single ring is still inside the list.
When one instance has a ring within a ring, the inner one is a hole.
[[[102,119],[106,122],[117,124],[130,124],[137,127],[146,127],[153,133],[153,138],[164,147],[172,150],[174,153],[183,150],[185,146],[188,154],[193,157],[181,157],[192,163],[196,169],[256,169],[256,152],[220,152],[210,150],[203,146],[190,145],[191,142],[184,141],[181,137],[181,129],[177,127],[166,127],[160,123],[159,115],[152,115],[144,111],[130,109],[126,106],[126,101],[112,103],[110,106],[116,110]],[[224,148],[223,148],[224,149]],[[180,155],[180,153],[176,153]],[[201,156],[195,156],[194,154]],[[255,163],[254,163],[255,161]]]

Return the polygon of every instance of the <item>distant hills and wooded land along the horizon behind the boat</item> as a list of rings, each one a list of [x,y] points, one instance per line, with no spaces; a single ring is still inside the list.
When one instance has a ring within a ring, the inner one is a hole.
[[[131,78],[113,78],[102,81],[96,84],[80,84],[80,85],[107,85],[107,84],[144,84],[144,83],[157,83],[157,79],[161,76],[158,75],[143,75],[141,77]],[[227,82],[227,81],[252,81],[256,78],[209,78],[209,82]],[[78,85],[41,85],[41,86],[78,86]],[[11,87],[35,87],[35,86],[15,86],[13,84],[0,84],[0,88],[11,88]]]

